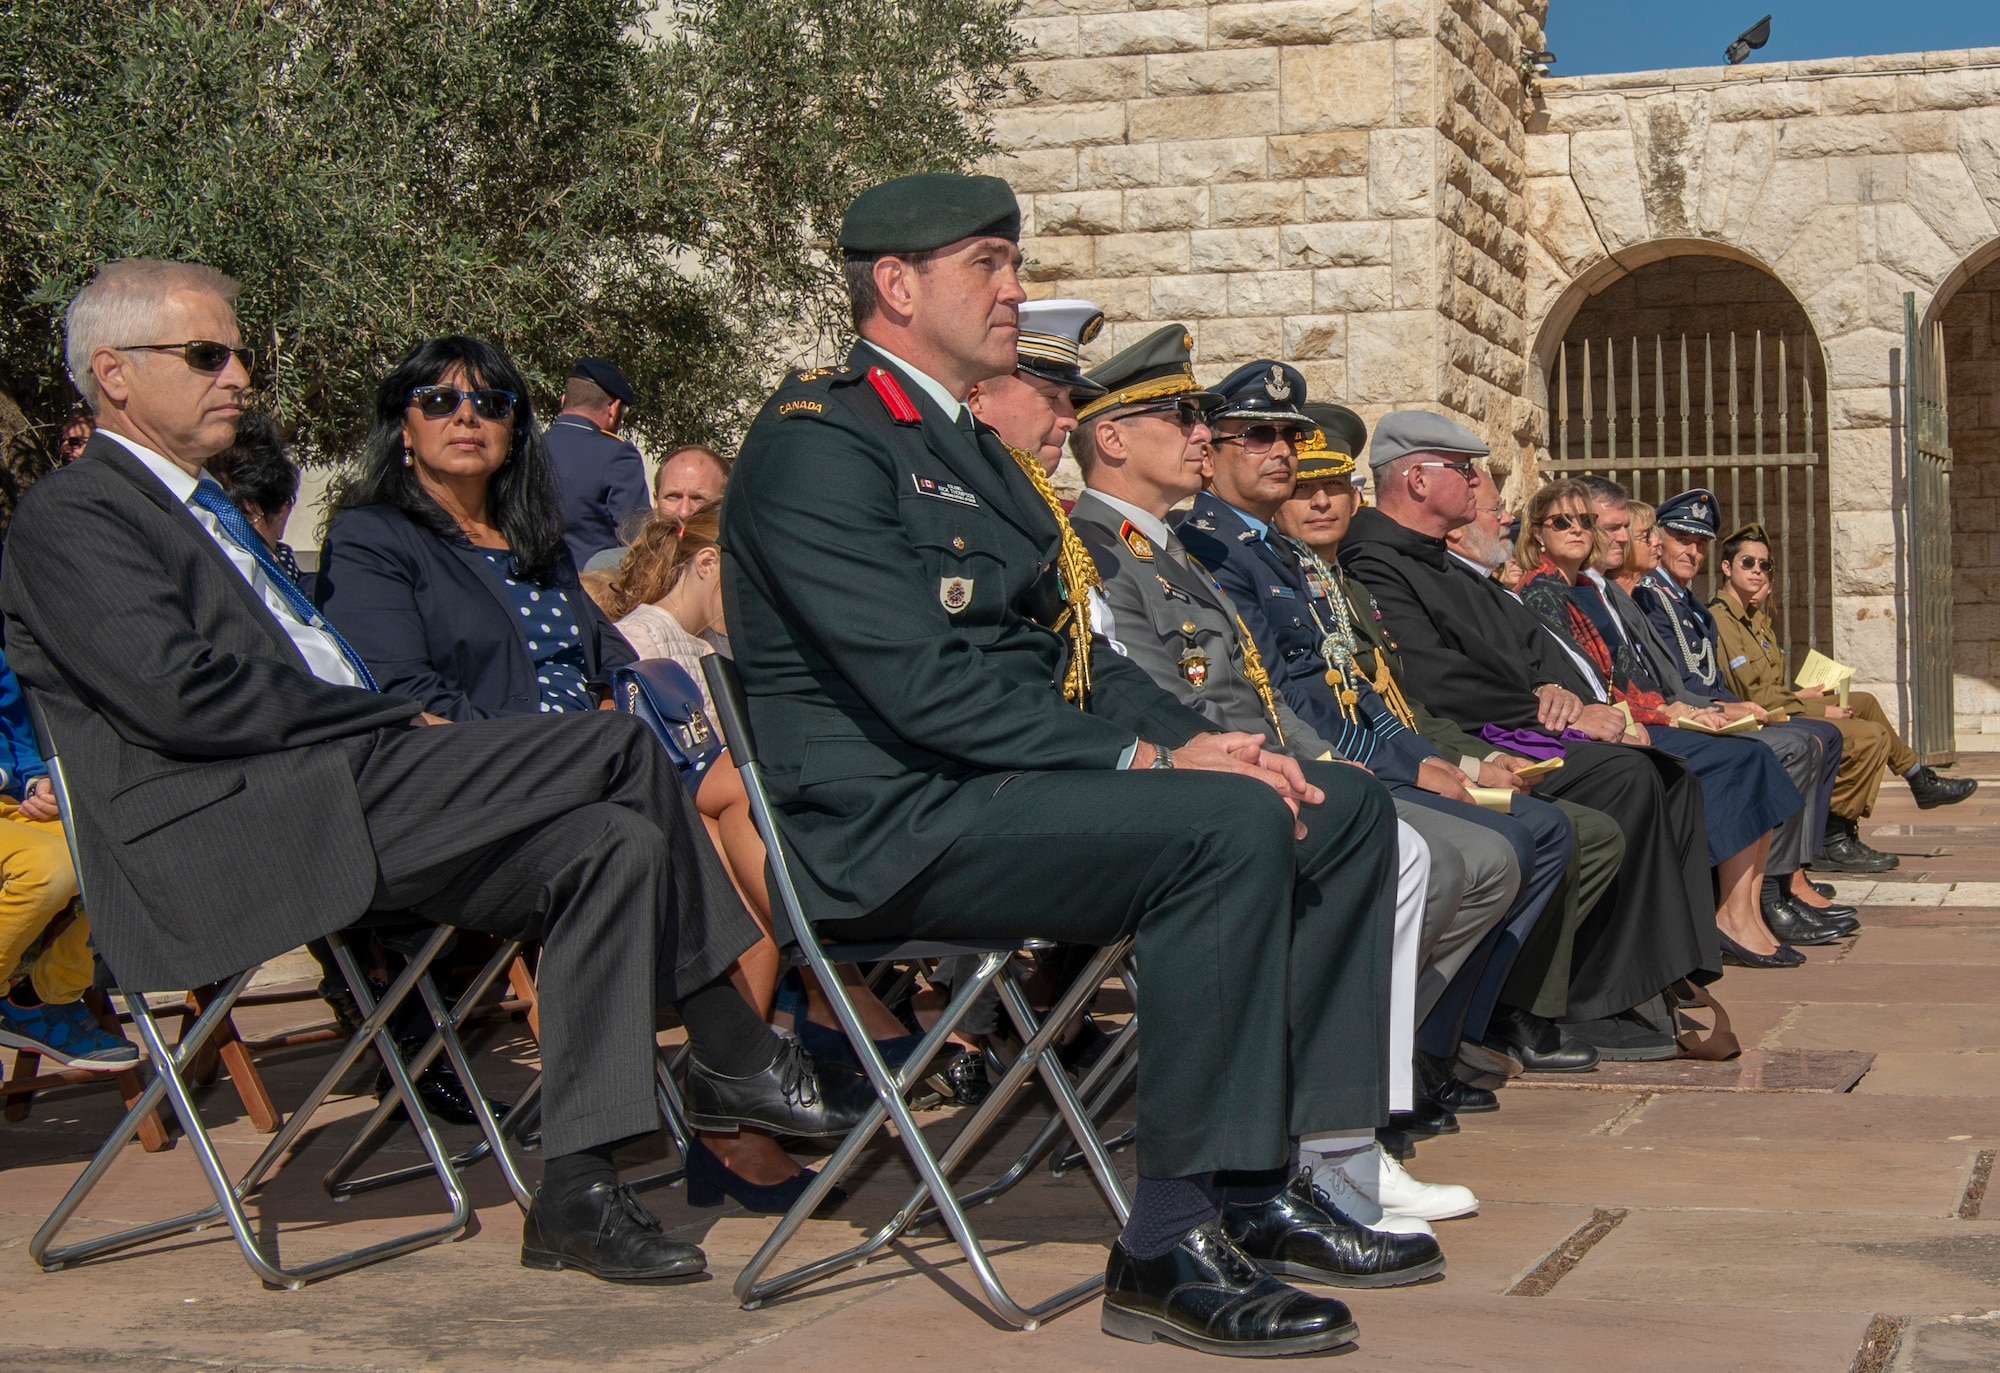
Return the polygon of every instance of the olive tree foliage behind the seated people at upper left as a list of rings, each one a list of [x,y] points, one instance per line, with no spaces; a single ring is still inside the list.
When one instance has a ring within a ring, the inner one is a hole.
[[[258,402],[342,458],[418,338],[614,358],[644,438],[730,438],[838,328],[840,208],[962,168],[1010,0],[0,0],[0,400],[52,444],[106,260],[242,282]],[[180,340],[132,340],[180,342]]]

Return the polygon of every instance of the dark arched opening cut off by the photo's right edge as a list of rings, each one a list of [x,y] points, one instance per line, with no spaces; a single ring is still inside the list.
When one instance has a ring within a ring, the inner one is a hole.
[[[1952,438],[1956,715],[1960,735],[1978,735],[2000,731],[2000,242],[1946,280],[1932,318]]]

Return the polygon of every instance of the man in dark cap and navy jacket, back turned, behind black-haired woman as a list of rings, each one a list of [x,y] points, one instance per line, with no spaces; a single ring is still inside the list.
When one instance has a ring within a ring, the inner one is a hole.
[[[562,538],[576,566],[618,548],[620,524],[652,504],[646,460],[618,436],[638,396],[624,372],[604,358],[576,358],[562,384],[562,414],[542,434],[562,496]]]

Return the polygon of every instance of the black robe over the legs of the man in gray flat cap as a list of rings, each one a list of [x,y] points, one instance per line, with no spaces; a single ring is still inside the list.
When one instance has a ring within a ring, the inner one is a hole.
[[[1702,787],[1678,759],[1630,745],[1566,745],[1534,789],[1602,811],[1624,833],[1618,881],[1578,927],[1570,1021],[1628,1011],[1682,977],[1722,975]]]

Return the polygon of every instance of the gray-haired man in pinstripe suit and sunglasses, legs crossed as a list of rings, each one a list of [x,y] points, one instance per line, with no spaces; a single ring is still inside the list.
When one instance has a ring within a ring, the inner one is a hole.
[[[866,1093],[828,1099],[730,987],[756,925],[644,727],[448,725],[374,691],[204,472],[250,384],[234,292],[144,260],[78,292],[70,374],[100,428],[22,502],[0,578],[78,807],[98,951],[126,991],[174,991],[370,911],[540,939],[548,1167],[522,1263],[692,1277],[700,1249],[610,1165],[660,1125],[660,1001],[696,1041],[690,1117],[790,1131],[804,1107],[812,1133],[844,1133]]]

